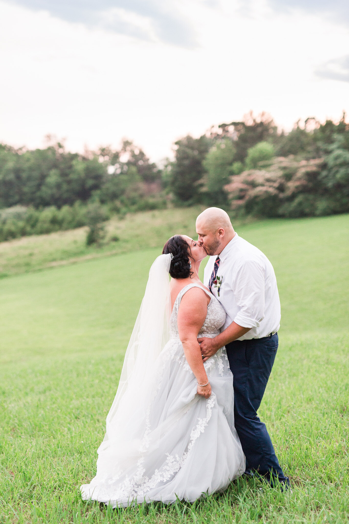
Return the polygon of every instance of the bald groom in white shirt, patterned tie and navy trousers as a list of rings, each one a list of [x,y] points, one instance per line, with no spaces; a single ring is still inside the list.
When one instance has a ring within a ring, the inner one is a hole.
[[[234,376],[234,418],[246,474],[257,472],[275,485],[289,486],[265,424],[257,417],[274,364],[280,326],[280,300],[272,264],[235,233],[229,215],[209,208],[196,220],[198,241],[211,255],[204,283],[227,312],[222,332],[198,339],[204,362],[226,346]]]

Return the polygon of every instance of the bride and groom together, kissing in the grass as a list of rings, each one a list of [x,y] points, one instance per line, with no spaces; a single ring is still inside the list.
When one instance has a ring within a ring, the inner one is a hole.
[[[273,266],[219,208],[196,232],[171,237],[150,269],[84,500],[193,502],[241,475],[289,486],[257,417],[278,347]]]

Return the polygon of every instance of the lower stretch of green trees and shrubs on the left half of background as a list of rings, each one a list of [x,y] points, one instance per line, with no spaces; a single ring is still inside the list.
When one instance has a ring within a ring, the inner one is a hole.
[[[112,214],[166,207],[161,174],[129,140],[84,154],[60,142],[35,150],[0,144],[0,242],[85,225],[87,244],[101,242],[100,224]]]

